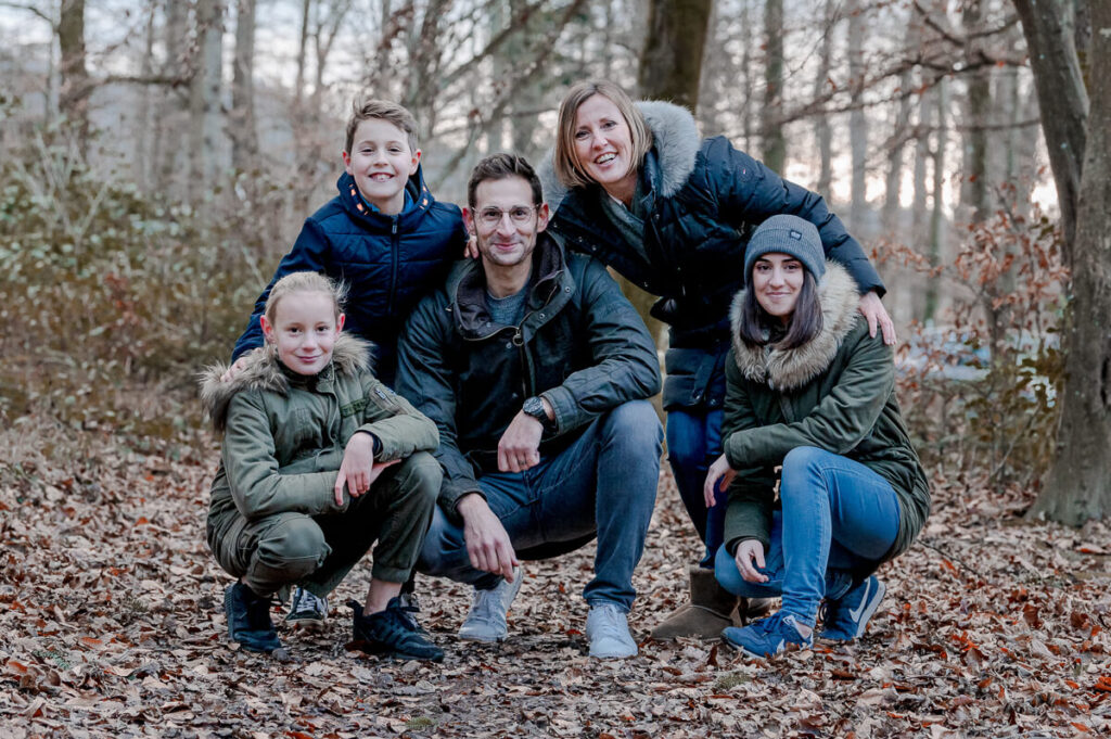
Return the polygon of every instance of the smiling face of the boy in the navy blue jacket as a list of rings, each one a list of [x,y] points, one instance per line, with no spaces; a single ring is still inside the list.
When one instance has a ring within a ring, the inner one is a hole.
[[[406,183],[417,171],[420,151],[409,148],[409,137],[381,118],[359,123],[351,151],[343,152],[343,167],[354,178],[359,192],[388,216],[406,204]]]

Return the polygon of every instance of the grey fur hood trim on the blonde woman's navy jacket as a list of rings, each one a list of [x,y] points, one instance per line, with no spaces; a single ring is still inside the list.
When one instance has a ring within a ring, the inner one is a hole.
[[[658,194],[670,198],[687,183],[694,171],[702,137],[699,136],[694,116],[682,106],[661,100],[641,100],[635,103],[652,131],[652,147],[660,167]],[[552,148],[540,163],[538,174],[543,188],[544,200],[553,211],[567,197],[568,189],[556,177]]]

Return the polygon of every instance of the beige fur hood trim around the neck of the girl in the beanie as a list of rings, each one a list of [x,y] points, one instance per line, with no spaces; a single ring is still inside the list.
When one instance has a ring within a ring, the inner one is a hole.
[[[737,293],[729,318],[733,354],[744,377],[767,382],[778,390],[794,390],[825,371],[837,357],[841,342],[857,324],[860,292],[844,267],[827,260],[825,277],[818,286],[818,296],[822,306],[822,330],[801,347],[779,350],[749,347],[741,341],[739,328],[744,290]]]

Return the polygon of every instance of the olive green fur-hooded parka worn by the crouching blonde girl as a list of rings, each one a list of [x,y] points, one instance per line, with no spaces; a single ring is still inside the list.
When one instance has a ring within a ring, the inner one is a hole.
[[[369,343],[341,333],[332,361],[319,375],[289,371],[272,346],[249,354],[229,382],[224,367],[201,379],[201,402],[223,433],[212,481],[208,540],[220,540],[239,517],[257,520],[284,511],[339,513],[336,478],[356,431],[378,440],[374,461],[434,451],[436,425],[370,372]]]

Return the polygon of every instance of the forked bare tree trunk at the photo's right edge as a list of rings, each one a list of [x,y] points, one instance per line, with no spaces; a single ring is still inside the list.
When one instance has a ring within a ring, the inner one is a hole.
[[[1107,328],[1111,316],[1111,34],[1091,36],[1089,111],[1074,34],[1064,32],[1061,24],[1064,13],[1045,0],[1014,0],[1014,4],[1030,47],[1042,130],[1071,247],[1065,250],[1065,263],[1072,274],[1057,457],[1030,515],[1079,526],[1111,512],[1111,332]],[[1111,28],[1111,3],[1092,2],[1089,10],[1093,29]],[[1070,212],[1077,218],[1071,234]]]

